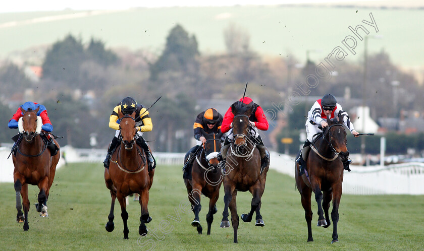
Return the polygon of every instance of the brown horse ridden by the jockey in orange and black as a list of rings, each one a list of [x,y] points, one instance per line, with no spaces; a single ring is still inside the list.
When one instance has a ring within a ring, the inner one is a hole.
[[[206,215],[207,234],[210,234],[210,226],[214,221],[214,214],[217,213],[216,203],[220,196],[220,187],[222,183],[221,170],[218,167],[217,155],[221,149],[221,137],[223,133],[210,133],[202,131],[206,142],[201,151],[195,156],[195,162],[191,169],[191,180],[184,178],[184,184],[187,188],[188,199],[192,205],[194,220],[191,222],[193,227],[197,227],[197,232],[202,233],[202,226],[199,221],[200,195],[209,198],[209,211]],[[187,159],[184,160],[186,162]]]

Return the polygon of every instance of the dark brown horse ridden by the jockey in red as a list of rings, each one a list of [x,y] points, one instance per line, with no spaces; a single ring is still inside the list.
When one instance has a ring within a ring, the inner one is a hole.
[[[249,191],[253,198],[251,209],[248,214],[242,214],[244,222],[252,220],[253,212],[256,211],[255,226],[264,226],[262,216],[259,213],[267,172],[269,165],[260,170],[260,153],[256,148],[255,139],[251,135],[249,116],[253,107],[248,107],[237,101],[231,105],[234,114],[233,119],[233,140],[227,153],[227,160],[224,172],[224,211],[221,227],[230,227],[228,221],[228,208],[231,211],[231,223],[233,224],[234,242],[237,242],[237,229],[239,216],[237,215],[236,197],[237,191]]]

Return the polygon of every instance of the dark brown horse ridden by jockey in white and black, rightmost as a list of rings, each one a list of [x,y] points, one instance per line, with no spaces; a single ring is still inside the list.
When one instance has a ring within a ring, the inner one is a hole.
[[[308,179],[302,179],[298,175],[299,164],[295,163],[295,177],[297,190],[302,198],[302,206],[305,210],[305,219],[308,226],[308,241],[312,238],[312,211],[310,197],[315,194],[318,204],[318,224],[325,228],[331,225],[328,210],[333,200],[331,220],[333,221],[333,240],[337,242],[337,223],[339,221],[339,204],[342,197],[343,162],[347,160],[349,152],[346,145],[346,131],[343,126],[343,115],[333,119],[327,118],[328,127],[323,134],[314,140],[311,145],[313,151],[309,152],[305,172]],[[323,210],[324,209],[324,210]],[[324,218],[325,213],[325,218]]]

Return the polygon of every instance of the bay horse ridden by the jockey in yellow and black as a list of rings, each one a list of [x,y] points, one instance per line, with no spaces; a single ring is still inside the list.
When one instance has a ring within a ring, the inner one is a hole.
[[[121,217],[124,222],[124,239],[128,239],[128,213],[126,210],[125,197],[137,193],[139,194],[139,203],[141,206],[140,226],[138,233],[140,235],[147,234],[146,223],[151,221],[147,210],[149,201],[149,190],[153,183],[154,169],[149,170],[147,166],[146,154],[143,149],[136,143],[136,124],[135,111],[129,115],[122,114],[120,117],[119,129],[121,130],[121,144],[112,154],[109,169],[104,169],[104,181],[111,191],[112,203],[111,211],[108,216],[108,223],[105,228],[108,232],[112,232],[114,226],[114,207],[115,199],[118,198],[121,205]]]

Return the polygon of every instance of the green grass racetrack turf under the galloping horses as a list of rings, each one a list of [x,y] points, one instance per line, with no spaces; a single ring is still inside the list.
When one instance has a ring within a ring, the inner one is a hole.
[[[223,191],[221,191],[223,192]],[[103,181],[103,167],[98,164],[70,164],[58,170],[48,201],[48,218],[41,218],[35,211],[38,191],[30,187],[31,208],[29,231],[16,222],[15,191],[12,183],[0,183],[0,239],[2,250],[41,249],[97,249],[144,250],[154,243],[157,250],[418,250],[424,240],[424,196],[352,196],[343,195],[340,205],[339,241],[330,244],[332,227],[316,227],[316,205],[313,205],[313,242],[306,242],[307,230],[300,195],[294,189],[294,179],[270,171],[267,187],[262,197],[261,214],[266,226],[240,222],[239,243],[233,243],[232,228],[221,229],[223,195],[218,201],[211,235],[206,232],[206,199],[200,221],[203,235],[198,235],[190,223],[192,212],[179,210],[180,202],[187,201],[180,166],[158,166],[150,190],[149,212],[153,218],[147,228],[152,231],[168,215],[181,221],[171,221],[173,230],[168,234],[156,231],[161,241],[151,233],[137,242],[140,206],[130,201],[129,239],[123,239],[123,224],[119,203],[115,207],[115,230],[104,229],[108,221],[110,194]],[[250,209],[251,196],[239,193],[239,214]]]

